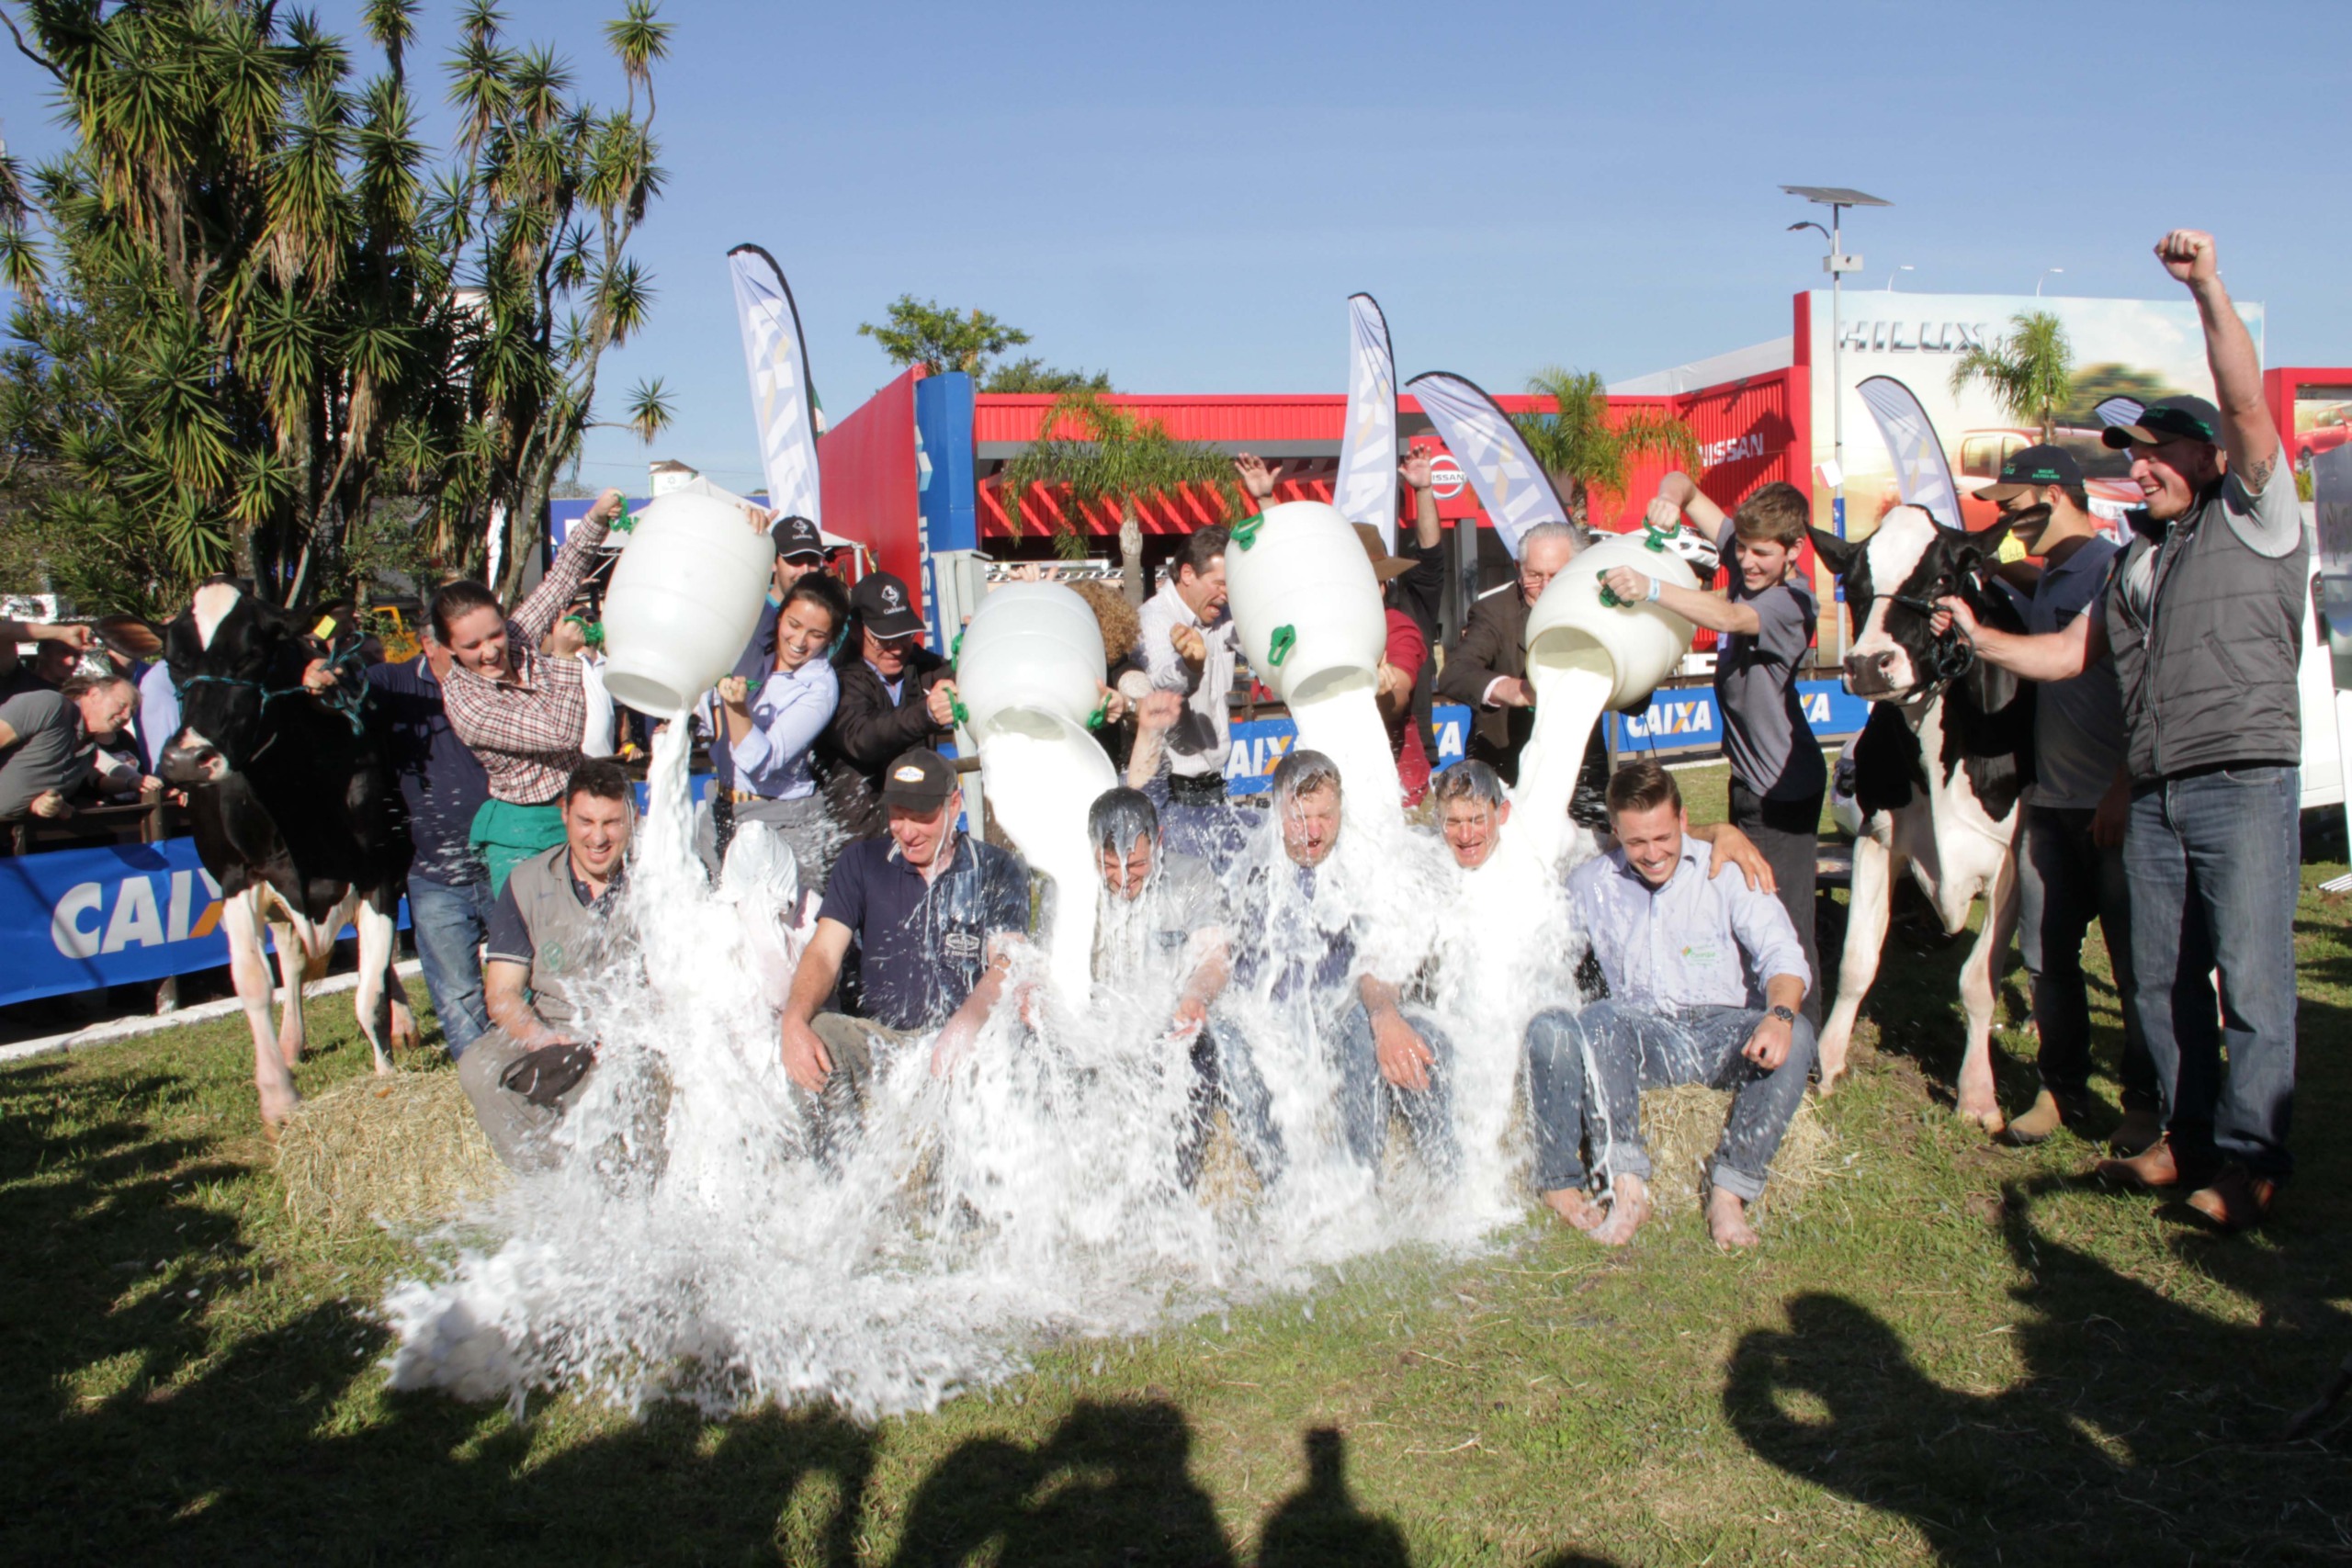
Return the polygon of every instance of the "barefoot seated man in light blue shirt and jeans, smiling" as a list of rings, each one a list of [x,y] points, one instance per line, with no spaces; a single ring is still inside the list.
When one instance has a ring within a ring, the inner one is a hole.
[[[1656,762],[1609,780],[1609,827],[1618,846],[1569,877],[1609,997],[1526,1025],[1536,1190],[1595,1241],[1632,1241],[1649,1218],[1642,1088],[1731,1088],[1708,1168],[1708,1232],[1719,1246],[1755,1246],[1748,1204],[1764,1194],[1813,1065],[1813,1025],[1797,1013],[1813,983],[1804,947],[1776,896],[1708,877],[1682,790]],[[1588,1121],[1606,1208],[1583,1190]]]

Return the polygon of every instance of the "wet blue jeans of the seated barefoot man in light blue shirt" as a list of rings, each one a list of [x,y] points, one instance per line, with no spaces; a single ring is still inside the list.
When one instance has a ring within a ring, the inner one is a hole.
[[[1745,1006],[1686,1006],[1670,1018],[1623,1001],[1536,1013],[1526,1025],[1536,1192],[1585,1185],[1578,1145],[1588,1117],[1592,1164],[1609,1175],[1649,1180],[1642,1091],[1705,1084],[1736,1093],[1708,1180],[1745,1201],[1762,1197],[1771,1157],[1780,1152],[1813,1070],[1813,1025],[1804,1016],[1790,1027],[1788,1058],[1771,1072],[1740,1056],[1762,1020],[1762,1011]]]

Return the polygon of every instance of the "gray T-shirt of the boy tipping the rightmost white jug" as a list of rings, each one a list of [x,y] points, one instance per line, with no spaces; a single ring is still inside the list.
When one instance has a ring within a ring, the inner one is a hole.
[[[1726,520],[1715,548],[1731,569],[1731,602],[1757,614],[1755,637],[1724,632],[1715,644],[1715,703],[1724,715],[1731,776],[1764,799],[1820,799],[1830,771],[1797,703],[1797,665],[1813,646],[1820,602],[1795,576],[1750,595],[1740,581],[1738,534]]]

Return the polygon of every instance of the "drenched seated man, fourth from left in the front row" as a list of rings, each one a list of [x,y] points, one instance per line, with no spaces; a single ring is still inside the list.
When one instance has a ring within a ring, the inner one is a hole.
[[[1265,910],[1244,924],[1235,985],[1275,1004],[1305,1006],[1336,1058],[1341,1138],[1359,1164],[1378,1168],[1388,1112],[1397,1110],[1421,1161],[1437,1175],[1451,1175],[1461,1164],[1446,1091],[1451,1041],[1425,1016],[1397,1004],[1397,985],[1359,973],[1352,917],[1329,926],[1315,919],[1315,891],[1338,849],[1338,764],[1322,752],[1291,750],[1275,766],[1272,813],[1282,860],[1261,870],[1256,893]],[[1216,1027],[1223,1039],[1232,1025],[1218,1018]],[[1242,1051],[1237,1030],[1232,1051]]]

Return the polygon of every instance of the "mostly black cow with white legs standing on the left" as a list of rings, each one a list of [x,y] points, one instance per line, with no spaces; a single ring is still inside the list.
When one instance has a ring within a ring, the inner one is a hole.
[[[409,875],[400,788],[381,724],[303,689],[313,654],[285,611],[228,583],[198,588],[195,604],[165,628],[181,729],[160,764],[188,790],[195,851],[221,884],[228,969],[254,1027],[254,1086],[268,1126],[299,1100],[289,1067],[303,1051],[301,987],[327,971],[346,922],[360,931],[360,1030],[376,1072],[393,1070],[386,1034],[416,1034],[393,976],[393,924]],[[275,1041],[263,926],[287,987]]]

